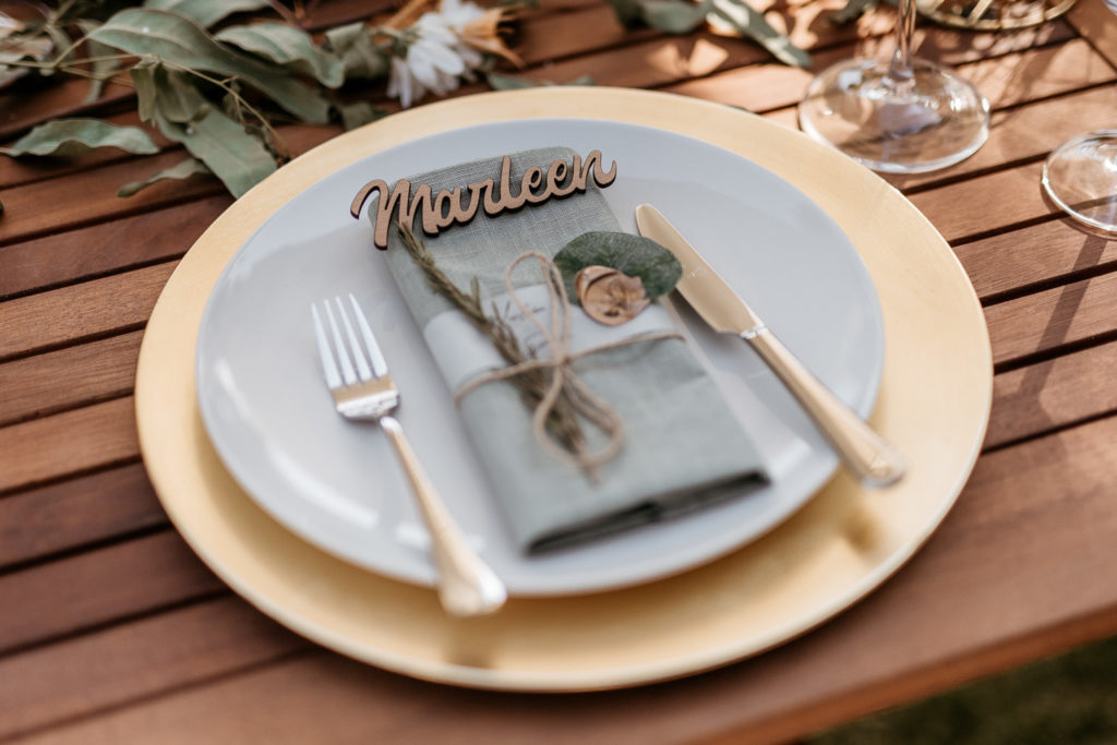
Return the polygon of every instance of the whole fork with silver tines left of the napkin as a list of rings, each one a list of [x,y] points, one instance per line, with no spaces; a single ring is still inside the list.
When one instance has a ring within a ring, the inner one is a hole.
[[[403,428],[391,416],[400,404],[399,390],[388,374],[388,362],[352,293],[349,300],[360,338],[364,342],[363,348],[342,298],[335,297],[333,307],[330,300],[322,303],[330,327],[328,335],[317,307],[311,305],[314,332],[318,338],[318,354],[322,356],[326,385],[334,397],[334,407],[346,419],[380,422],[381,429],[395,447],[395,453],[430,533],[431,553],[439,573],[438,596],[442,608],[451,615],[459,617],[491,613],[504,604],[508,593],[493,570],[469,546],[461,528],[454,522],[435,486],[427,478],[411,443],[403,434]],[[335,311],[341,318],[340,325]]]

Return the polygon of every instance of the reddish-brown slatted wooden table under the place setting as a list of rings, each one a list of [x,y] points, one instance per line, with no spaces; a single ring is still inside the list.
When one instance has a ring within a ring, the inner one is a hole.
[[[528,75],[589,74],[794,125],[810,74],[753,45],[626,31],[598,0],[541,4],[518,40]],[[839,29],[824,7],[775,6],[817,68],[890,48],[890,10]],[[327,2],[315,22],[363,12]],[[200,178],[114,195],[173,152],[0,159],[0,739],[770,742],[1117,633],[1117,242],[1076,229],[1039,187],[1051,149],[1117,124],[1117,20],[1081,0],[1016,34],[917,34],[923,56],[960,67],[994,107],[976,155],[895,182],[985,306],[996,378],[984,453],[926,547],[850,611],[758,658],[613,693],[399,677],[295,636],[217,580],[144,475],[132,385],[161,287],[230,198]],[[0,137],[82,111],[84,93],[70,80],[0,95]],[[127,93],[98,113],[134,121]],[[332,134],[287,136],[306,149]]]

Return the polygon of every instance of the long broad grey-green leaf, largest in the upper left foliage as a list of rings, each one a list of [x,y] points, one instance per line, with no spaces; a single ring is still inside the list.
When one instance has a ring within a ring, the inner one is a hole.
[[[89,38],[131,55],[154,55],[176,67],[239,78],[311,124],[325,124],[330,118],[330,104],[319,92],[280,67],[221,46],[197,21],[183,16],[130,8],[109,18]]]

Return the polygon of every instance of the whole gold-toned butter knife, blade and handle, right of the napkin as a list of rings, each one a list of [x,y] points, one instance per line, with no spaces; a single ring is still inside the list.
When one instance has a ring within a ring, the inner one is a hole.
[[[640,235],[668,248],[682,264],[676,289],[687,303],[714,331],[736,334],[756,351],[862,484],[880,488],[904,476],[899,452],[787,351],[659,210],[641,204],[636,208],[636,223]]]

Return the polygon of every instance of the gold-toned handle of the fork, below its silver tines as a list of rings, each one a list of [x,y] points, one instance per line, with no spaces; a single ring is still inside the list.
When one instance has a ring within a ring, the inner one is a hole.
[[[470,548],[465,533],[454,522],[435,490],[403,427],[394,417],[381,417],[380,426],[395,447],[411,490],[430,533],[431,552],[438,566],[438,596],[451,615],[487,615],[504,605],[508,592],[488,564]]]

